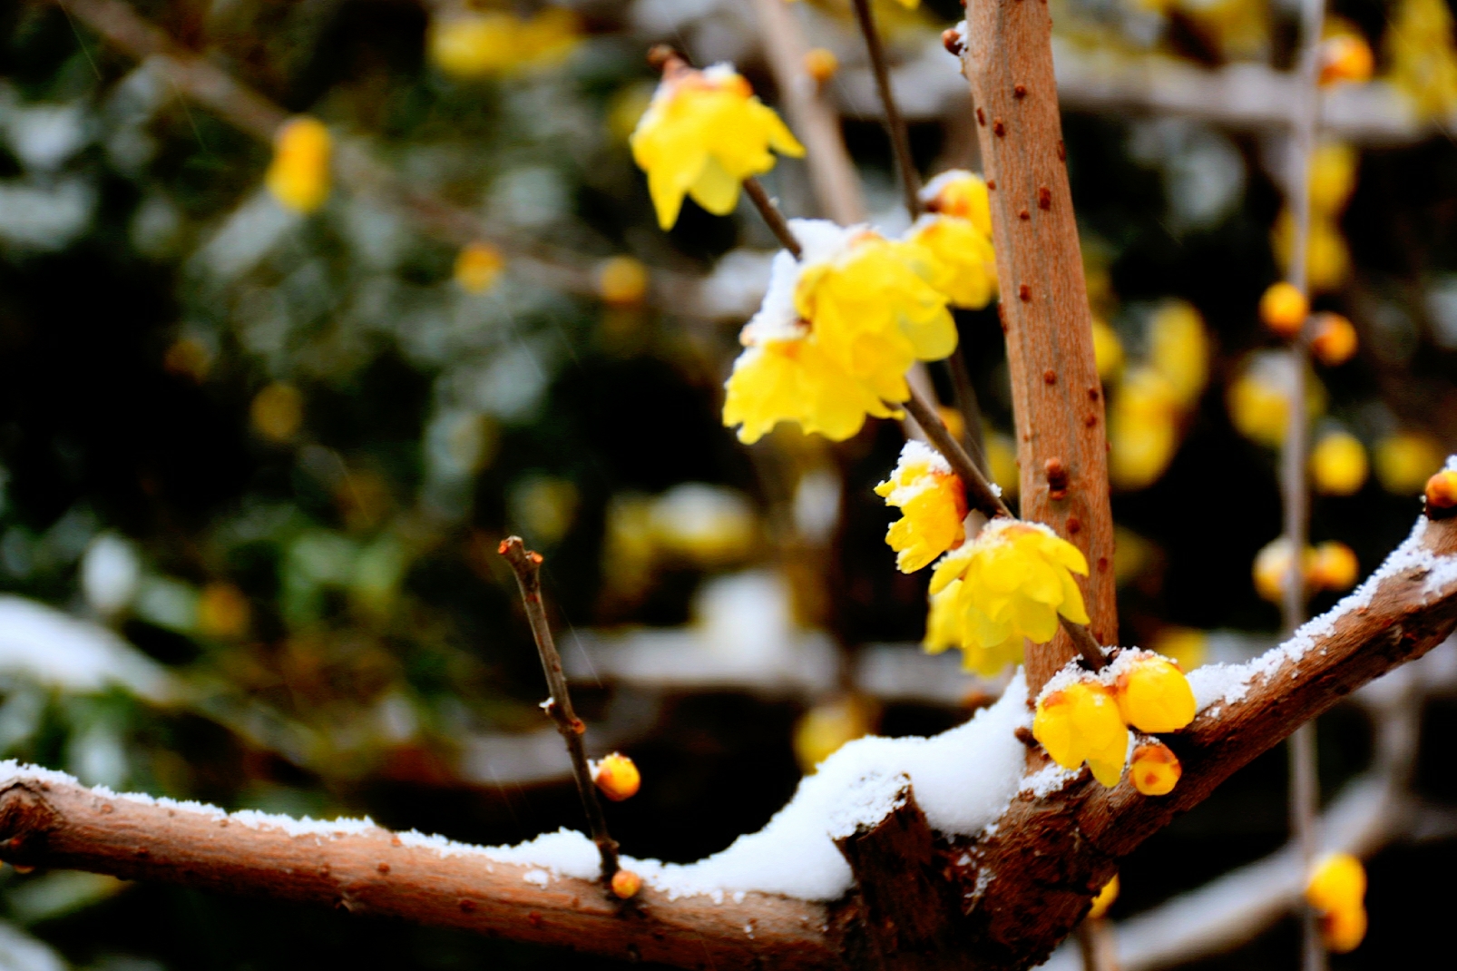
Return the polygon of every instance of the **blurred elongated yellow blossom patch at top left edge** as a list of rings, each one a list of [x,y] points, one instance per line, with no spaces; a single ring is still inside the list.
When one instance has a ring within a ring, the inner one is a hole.
[[[561,63],[581,41],[581,23],[565,7],[532,17],[506,10],[453,13],[430,23],[430,60],[459,79],[510,74]]]

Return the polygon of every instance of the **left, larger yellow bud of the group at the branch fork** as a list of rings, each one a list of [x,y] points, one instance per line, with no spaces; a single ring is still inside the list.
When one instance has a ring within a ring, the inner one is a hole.
[[[1104,786],[1116,786],[1128,755],[1128,726],[1113,694],[1097,681],[1074,681],[1037,701],[1032,733],[1064,768],[1083,763]]]

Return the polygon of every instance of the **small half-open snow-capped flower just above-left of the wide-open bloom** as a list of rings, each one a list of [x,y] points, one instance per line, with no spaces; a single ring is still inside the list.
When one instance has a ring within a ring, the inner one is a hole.
[[[876,486],[887,506],[900,509],[886,542],[896,551],[896,569],[915,573],[951,547],[962,545],[966,529],[966,490],[938,452],[922,442],[906,442],[890,478]]]

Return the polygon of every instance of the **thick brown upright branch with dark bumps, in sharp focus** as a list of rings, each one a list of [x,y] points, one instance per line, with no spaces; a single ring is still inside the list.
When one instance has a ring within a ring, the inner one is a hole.
[[[1087,555],[1099,643],[1118,639],[1103,386],[1062,146],[1052,20],[1040,0],[970,0],[962,60],[991,195],[998,312],[1007,334],[1021,513]],[[1071,636],[1027,652],[1039,691],[1077,653]]]

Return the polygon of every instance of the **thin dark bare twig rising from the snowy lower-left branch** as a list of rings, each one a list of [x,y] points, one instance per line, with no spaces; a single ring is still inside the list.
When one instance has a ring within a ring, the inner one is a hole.
[[[597,853],[602,854],[602,882],[610,885],[612,875],[618,872],[618,844],[608,835],[608,818],[602,814],[597,787],[592,783],[587,752],[581,744],[581,735],[587,726],[571,707],[567,675],[561,669],[561,655],[557,653],[557,643],[552,640],[551,625],[546,623],[546,609],[542,607],[542,554],[527,550],[520,537],[503,539],[497,553],[511,564],[516,582],[522,588],[526,620],[530,621],[536,652],[541,655],[546,685],[551,688],[551,697],[542,707],[557,723],[557,730],[567,742],[567,752],[571,755],[571,774],[577,779],[577,792],[581,793],[581,805],[587,811],[592,841],[597,844]]]

